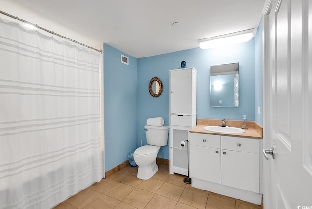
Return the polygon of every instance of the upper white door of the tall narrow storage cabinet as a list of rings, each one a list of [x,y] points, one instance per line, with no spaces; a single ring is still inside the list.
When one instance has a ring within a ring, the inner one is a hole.
[[[170,71],[170,113],[191,114],[191,70]]]

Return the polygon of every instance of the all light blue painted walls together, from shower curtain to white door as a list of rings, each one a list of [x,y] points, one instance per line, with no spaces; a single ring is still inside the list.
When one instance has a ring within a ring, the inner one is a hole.
[[[202,50],[183,50],[136,59],[104,44],[104,121],[106,171],[127,160],[142,141],[146,145],[144,125],[149,117],[163,117],[169,125],[169,72],[180,67],[197,70],[197,118],[248,120],[262,125],[262,24],[251,41],[232,46]],[[120,62],[120,54],[129,57],[129,66]],[[210,107],[210,66],[239,62],[239,108]],[[155,98],[148,84],[157,76],[163,93]],[[255,96],[256,95],[256,96]],[[123,127],[121,130],[120,127]],[[162,147],[158,157],[169,159],[169,146]]]

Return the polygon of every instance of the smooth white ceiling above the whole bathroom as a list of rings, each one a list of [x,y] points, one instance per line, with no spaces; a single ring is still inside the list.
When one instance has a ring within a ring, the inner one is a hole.
[[[257,28],[265,0],[15,2],[98,42],[141,58],[196,48],[199,39]],[[174,22],[179,22],[179,27],[173,27]]]

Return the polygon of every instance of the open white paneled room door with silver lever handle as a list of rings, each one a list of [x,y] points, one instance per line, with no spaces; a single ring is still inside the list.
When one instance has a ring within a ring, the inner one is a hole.
[[[264,208],[312,209],[312,1],[264,17]],[[268,33],[269,31],[269,33]]]

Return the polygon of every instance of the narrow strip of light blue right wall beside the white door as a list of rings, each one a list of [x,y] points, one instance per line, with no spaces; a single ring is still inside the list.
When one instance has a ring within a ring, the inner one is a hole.
[[[263,107],[262,107],[262,101],[263,101],[263,96],[262,96],[262,52],[263,52],[263,47],[262,47],[262,20],[260,21],[257,34],[254,38],[254,57],[255,57],[255,121],[259,125],[263,125]],[[258,107],[261,108],[261,114],[258,114]]]

